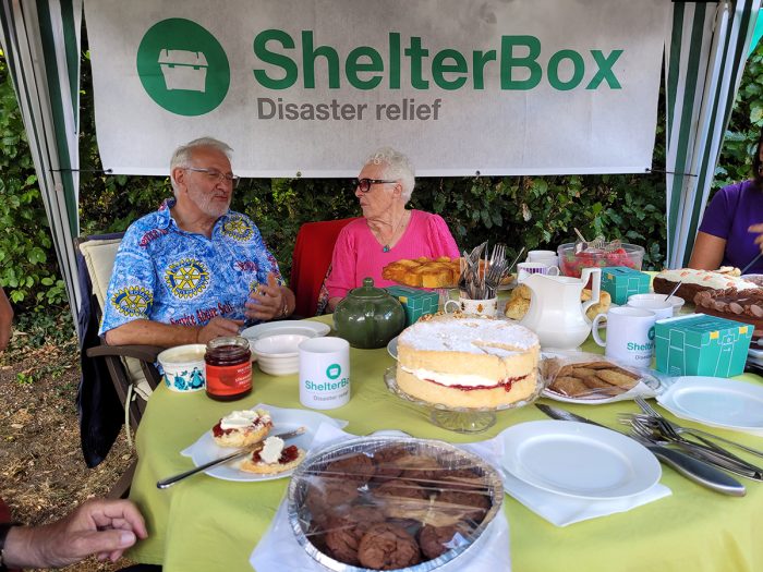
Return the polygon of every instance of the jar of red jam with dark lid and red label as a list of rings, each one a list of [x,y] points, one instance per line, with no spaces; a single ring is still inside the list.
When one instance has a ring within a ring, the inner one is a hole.
[[[234,401],[252,392],[252,351],[245,338],[209,340],[204,362],[211,399]]]

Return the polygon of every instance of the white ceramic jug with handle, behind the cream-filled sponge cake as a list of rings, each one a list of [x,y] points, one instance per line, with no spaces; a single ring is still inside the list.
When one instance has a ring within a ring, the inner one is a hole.
[[[593,283],[591,300],[581,303],[589,278]],[[601,268],[583,268],[580,278],[530,275],[523,283],[530,288],[531,297],[530,309],[520,324],[537,334],[542,348],[572,350],[585,341],[591,333],[585,311],[598,303]]]

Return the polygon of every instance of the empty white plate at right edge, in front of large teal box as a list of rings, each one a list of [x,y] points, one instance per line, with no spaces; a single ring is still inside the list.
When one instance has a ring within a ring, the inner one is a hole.
[[[674,415],[712,427],[763,431],[763,387],[723,377],[679,377],[657,402]]]

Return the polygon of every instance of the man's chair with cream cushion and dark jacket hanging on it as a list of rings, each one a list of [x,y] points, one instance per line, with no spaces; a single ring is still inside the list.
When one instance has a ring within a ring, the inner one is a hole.
[[[161,377],[154,366],[162,348],[154,345],[107,345],[97,334],[106,303],[114,258],[122,233],[78,238],[80,283],[87,292],[80,313],[83,378],[77,406],[83,453],[88,466],[96,466],[109,452],[122,425],[137,429],[146,400]],[[122,497],[132,482],[135,463],[111,489],[109,497]]]

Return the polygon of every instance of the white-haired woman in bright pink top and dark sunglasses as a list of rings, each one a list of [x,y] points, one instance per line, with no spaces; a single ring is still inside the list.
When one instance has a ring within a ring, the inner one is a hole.
[[[382,278],[382,269],[390,263],[459,255],[443,217],[405,208],[414,184],[413,166],[401,153],[383,147],[366,160],[355,181],[363,218],[339,233],[326,279],[330,311],[366,277],[375,285],[392,285]]]

